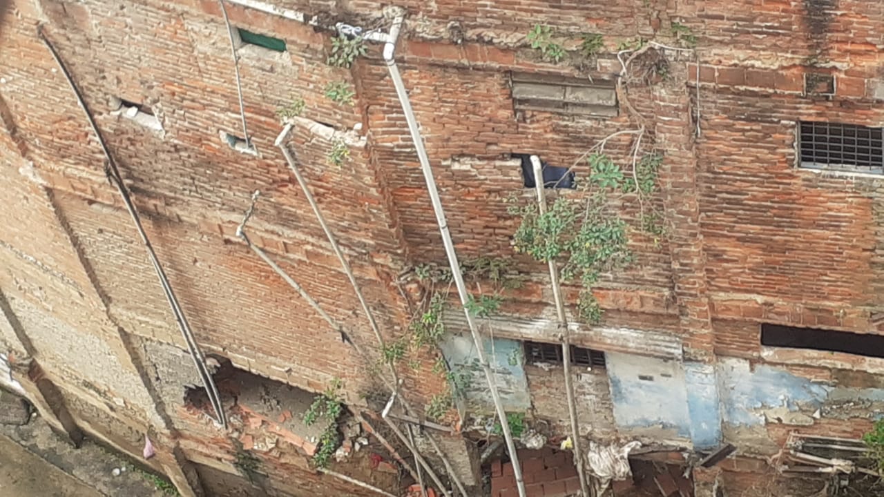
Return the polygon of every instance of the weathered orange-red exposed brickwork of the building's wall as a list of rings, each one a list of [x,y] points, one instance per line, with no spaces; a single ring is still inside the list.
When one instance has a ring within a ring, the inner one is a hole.
[[[377,393],[380,351],[273,146],[280,128],[276,108],[297,96],[307,104],[287,145],[386,340],[407,334],[410,310],[396,285],[400,275],[415,264],[446,260],[379,47],[370,45],[367,57],[349,70],[324,63],[328,27],[344,21],[384,29],[388,19],[380,6],[362,0],[273,4],[301,11],[318,26],[227,3],[234,26],[282,37],[288,48],[238,50],[245,117],[258,157],[218,137],[241,134],[241,123],[217,2],[21,0],[0,11],[0,288],[33,341],[35,360],[75,399],[72,412],[93,432],[102,432],[106,417],[108,438],[114,435],[123,447],[134,443],[133,433],[159,430],[169,447],[180,440],[187,457],[202,464],[223,460],[228,473],[229,442],[210,424],[181,418],[174,381],[144,374],[164,359],[133,354],[132,344],[160,354],[160,348],[184,343],[131,221],[103,177],[101,149],[34,31],[42,22],[69,65],[202,347],[309,391],[342,378],[347,400],[361,404],[360,394]],[[644,125],[646,149],[664,156],[662,192],[652,202],[666,213],[668,233],[659,244],[631,237],[636,264],[605,275],[596,292],[607,310],[604,325],[672,334],[682,339],[689,360],[713,362],[717,355],[779,363],[796,377],[819,381],[833,380],[831,368],[881,371],[876,359],[764,350],[758,324],[876,332],[884,303],[882,180],[796,168],[796,121],[880,126],[884,6],[861,0],[399,5],[408,13],[397,49],[400,70],[455,246],[465,258],[507,257],[528,278],[507,294],[503,313],[550,317],[552,302],[545,267],[509,248],[516,220],[506,212],[507,197],[533,195],[522,188],[509,155],[537,153],[550,164],[570,165],[605,136]],[[656,74],[629,81],[629,102],[640,118],[622,101],[612,119],[514,113],[508,72],[613,80],[621,72],[613,55],[620,42],[641,36],[678,44],[675,22],[688,27],[703,50],[699,57],[668,50],[667,79]],[[605,49],[595,60],[553,65],[527,46],[525,34],[535,23],[554,27],[567,49],[579,45],[581,34],[598,32]],[[807,73],[832,75],[834,96],[804,96]],[[354,106],[323,96],[333,81],[353,85]],[[149,106],[163,131],[115,114],[115,98]],[[351,149],[342,167],[326,164],[328,126],[340,133],[357,125],[364,144]],[[629,164],[630,144],[623,135],[609,141],[606,152]],[[588,174],[584,164],[575,172],[578,181]],[[370,353],[368,363],[236,238],[256,189],[263,196],[248,226],[252,240],[352,330],[352,339]],[[636,221],[636,205],[622,211]],[[566,286],[564,294],[573,303],[577,288]],[[9,323],[2,327],[4,352],[27,353]],[[433,354],[409,358],[415,367],[400,367],[403,394],[420,408],[446,391],[446,380],[432,371]],[[534,414],[551,420],[556,434],[565,432],[560,371],[526,370]],[[579,376],[586,379],[576,383],[582,424],[591,426],[593,438],[613,440],[618,432],[606,377],[595,371]],[[181,373],[174,379],[193,378]],[[169,426],[159,428],[164,415],[175,418],[180,439]],[[857,436],[868,423],[826,418],[809,429]],[[770,444],[785,435],[781,424],[762,431]],[[297,468],[298,478],[309,482],[304,488],[321,494],[327,478],[311,472],[303,458],[286,456],[271,479]],[[733,492],[748,492],[758,484],[743,481],[751,479],[743,474],[749,471],[728,467],[721,481]],[[571,484],[562,489],[561,479],[532,481],[531,491],[575,490]],[[503,497],[513,489],[498,490]],[[332,486],[329,492],[353,489]]]

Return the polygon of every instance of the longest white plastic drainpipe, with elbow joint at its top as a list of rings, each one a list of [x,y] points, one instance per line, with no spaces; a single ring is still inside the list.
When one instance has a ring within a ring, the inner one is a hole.
[[[461,306],[463,306],[463,312],[467,317],[469,333],[473,336],[473,342],[476,345],[476,355],[479,357],[479,363],[482,364],[482,369],[485,373],[485,379],[488,381],[488,387],[492,393],[494,409],[497,411],[497,416],[500,420],[500,426],[503,430],[503,436],[507,440],[507,451],[509,452],[511,462],[513,463],[513,473],[516,486],[519,489],[519,496],[525,497],[525,482],[522,480],[522,465],[519,463],[518,455],[516,455],[515,443],[513,441],[513,433],[510,432],[509,424],[507,423],[507,413],[504,412],[503,404],[500,401],[500,394],[497,384],[494,381],[494,374],[492,372],[491,365],[488,363],[488,359],[485,357],[482,338],[479,336],[478,330],[476,328],[476,323],[473,321],[473,317],[469,314],[469,309],[467,308],[469,293],[467,292],[467,287],[463,282],[463,275],[461,274],[461,264],[458,262],[457,253],[454,251],[454,244],[451,240],[451,233],[449,233],[448,231],[445,210],[443,210],[442,203],[439,200],[436,180],[433,178],[433,170],[430,165],[430,157],[427,157],[427,150],[423,146],[423,137],[421,136],[420,129],[418,128],[417,118],[415,117],[415,112],[411,108],[411,101],[408,100],[408,91],[405,89],[405,83],[402,81],[402,76],[399,73],[399,67],[396,66],[396,41],[399,38],[399,32],[402,27],[403,20],[403,16],[397,16],[396,19],[393,20],[392,26],[390,27],[390,34],[386,36],[385,40],[384,60],[387,65],[387,70],[389,70],[390,72],[393,86],[396,88],[396,95],[399,96],[399,101],[402,105],[402,111],[405,114],[405,119],[408,122],[408,132],[411,134],[411,140],[415,144],[417,157],[421,162],[423,178],[424,180],[426,180],[427,191],[430,194],[430,201],[433,205],[433,210],[436,213],[439,233],[442,234],[442,243],[445,245],[446,256],[448,256],[448,263],[451,265],[454,285],[457,287],[457,293],[461,296]]]

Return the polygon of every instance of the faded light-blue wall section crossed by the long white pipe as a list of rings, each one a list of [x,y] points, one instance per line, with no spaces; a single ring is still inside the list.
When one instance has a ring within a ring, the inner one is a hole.
[[[483,341],[484,352],[494,371],[504,410],[524,412],[529,409],[531,397],[528,393],[528,379],[522,367],[522,342],[500,338],[491,340],[487,337]],[[476,344],[472,337],[449,334],[439,347],[453,371],[469,375],[469,385],[464,392],[469,409],[493,412],[492,394],[476,356]]]

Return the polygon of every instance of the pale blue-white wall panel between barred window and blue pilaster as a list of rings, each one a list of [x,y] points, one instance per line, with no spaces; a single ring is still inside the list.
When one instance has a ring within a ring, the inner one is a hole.
[[[682,363],[606,353],[613,416],[621,429],[662,427],[690,439],[688,394]]]

